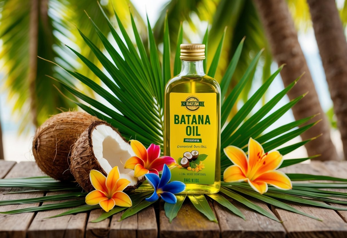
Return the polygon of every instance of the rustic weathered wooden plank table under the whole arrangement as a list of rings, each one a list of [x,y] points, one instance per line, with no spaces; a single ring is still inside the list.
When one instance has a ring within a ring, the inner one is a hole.
[[[286,168],[285,172],[311,173],[347,178],[346,162],[312,162]],[[0,178],[42,176],[34,162],[0,161]],[[43,192],[6,194],[17,188],[0,188],[0,199],[17,199],[43,196]],[[347,189],[346,189],[347,192]],[[48,193],[54,194],[54,193]],[[52,203],[52,202],[51,202]],[[256,212],[246,209],[236,201],[246,216],[246,221],[232,214],[217,203],[211,203],[218,222],[207,220],[189,199],[183,204],[176,219],[170,224],[163,210],[163,203],[151,206],[137,215],[118,222],[121,213],[99,223],[96,219],[101,209],[91,212],[43,219],[67,209],[44,212],[31,212],[13,215],[0,215],[0,237],[347,237],[347,211],[333,211],[323,208],[291,204],[304,212],[317,216],[317,221],[306,216],[277,209],[265,203],[258,203],[273,212],[283,223],[273,221]],[[19,204],[0,206],[0,211],[40,206],[41,204]],[[340,204],[333,204],[342,206]]]

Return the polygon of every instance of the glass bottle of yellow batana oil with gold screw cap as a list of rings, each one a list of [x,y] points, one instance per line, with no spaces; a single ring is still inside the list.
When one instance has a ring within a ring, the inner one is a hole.
[[[220,87],[196,57],[202,46],[181,45],[181,73],[166,85],[164,155],[177,161],[171,180],[186,184],[183,193],[212,194],[220,189]]]

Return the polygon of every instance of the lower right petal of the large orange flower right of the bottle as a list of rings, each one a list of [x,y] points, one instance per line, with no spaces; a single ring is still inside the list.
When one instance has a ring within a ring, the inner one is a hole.
[[[266,182],[267,184],[270,184],[276,188],[283,190],[288,190],[293,187],[288,176],[285,173],[277,170],[263,173],[262,175],[255,178],[253,181]]]

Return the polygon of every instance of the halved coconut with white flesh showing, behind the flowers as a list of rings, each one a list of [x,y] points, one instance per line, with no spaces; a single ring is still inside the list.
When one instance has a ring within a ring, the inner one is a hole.
[[[94,121],[72,148],[70,171],[78,184],[90,192],[94,190],[89,179],[92,169],[107,176],[113,167],[118,166],[120,177],[130,181],[126,190],[135,189],[145,178],[135,178],[134,170],[125,169],[122,164],[134,155],[130,144],[116,128],[104,121]]]

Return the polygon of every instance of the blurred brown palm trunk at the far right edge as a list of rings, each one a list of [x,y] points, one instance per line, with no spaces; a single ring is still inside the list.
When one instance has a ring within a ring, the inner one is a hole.
[[[335,0],[307,0],[347,159],[347,42]]]

